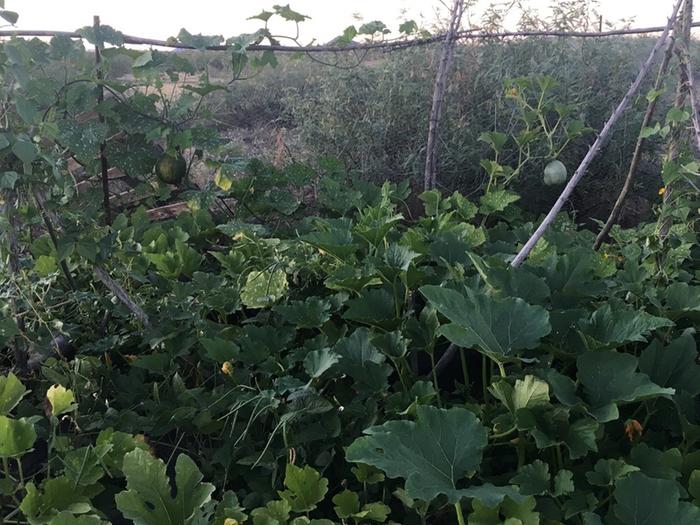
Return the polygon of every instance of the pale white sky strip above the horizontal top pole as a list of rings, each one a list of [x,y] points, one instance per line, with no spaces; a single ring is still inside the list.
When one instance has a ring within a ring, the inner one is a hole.
[[[555,0],[529,0],[543,9]],[[634,17],[635,26],[663,25],[675,0],[601,0],[603,15],[611,20]],[[260,21],[248,21],[273,4],[290,3],[292,9],[312,17],[302,25],[302,40],[322,42],[356,23],[353,15],[365,21],[381,20],[392,30],[401,21],[434,20],[438,0],[5,0],[6,9],[19,12],[21,29],[71,31],[92,23],[100,15],[102,23],[142,37],[167,38],[181,27],[191,33],[221,34],[226,37],[253,31]],[[482,0],[481,5],[488,4]],[[405,14],[402,14],[405,12]],[[277,29],[277,28],[275,28]],[[289,28],[283,34],[289,34]],[[283,31],[280,28],[280,31]]]

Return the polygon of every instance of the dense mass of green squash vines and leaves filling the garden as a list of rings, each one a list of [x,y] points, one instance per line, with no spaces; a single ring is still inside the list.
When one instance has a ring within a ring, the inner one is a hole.
[[[259,18],[272,16],[302,17]],[[197,112],[224,85],[177,53],[124,49],[108,26],[81,32],[100,68],[62,37],[0,54],[3,519],[700,521],[687,147],[664,165],[658,224],[615,228],[598,252],[562,216],[511,268],[535,221],[516,182],[527,168],[544,187],[544,165],[592,131],[551,76],[502,86],[514,117],[479,132],[475,196],[416,196],[331,157],[232,156]],[[229,39],[232,80],[275,63],[246,53],[260,39],[274,37]],[[123,55],[128,81],[109,76]],[[671,108],[647,133],[689,118]],[[177,186],[154,173],[164,155],[186,162]],[[102,158],[141,206],[106,213]],[[153,220],[147,207],[172,197],[187,211]]]

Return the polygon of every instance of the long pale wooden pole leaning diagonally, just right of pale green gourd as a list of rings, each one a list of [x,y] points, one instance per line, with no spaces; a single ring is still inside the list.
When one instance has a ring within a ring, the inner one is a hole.
[[[581,178],[586,173],[586,170],[588,170],[588,167],[590,166],[590,164],[593,161],[593,159],[595,158],[595,156],[603,148],[603,145],[607,142],[608,138],[610,137],[610,135],[612,133],[613,127],[615,126],[617,121],[620,119],[620,117],[622,116],[622,113],[624,113],[625,109],[627,109],[627,106],[629,106],[635,93],[637,93],[637,91],[639,91],[639,88],[642,85],[644,78],[647,76],[647,73],[649,73],[649,70],[651,69],[651,65],[654,63],[654,57],[656,56],[656,53],[659,51],[659,49],[661,49],[661,46],[663,46],[664,43],[666,42],[666,39],[668,38],[668,34],[671,30],[671,27],[674,24],[674,21],[676,20],[676,16],[678,15],[678,10],[680,9],[683,1],[684,0],[678,0],[678,2],[676,2],[676,5],[673,8],[673,12],[671,13],[671,17],[668,19],[668,23],[666,24],[666,29],[664,29],[664,32],[661,34],[661,36],[658,38],[658,40],[654,44],[654,47],[652,48],[651,53],[649,53],[649,56],[647,57],[646,61],[642,65],[642,68],[639,70],[639,74],[637,75],[637,78],[632,83],[630,88],[627,90],[627,93],[620,101],[620,104],[617,106],[615,111],[613,111],[613,114],[610,116],[608,121],[603,126],[603,129],[601,130],[600,135],[598,135],[598,138],[596,138],[595,142],[588,150],[588,153],[581,161],[581,164],[579,165],[578,169],[576,170],[576,172],[573,174],[573,176],[571,177],[571,179],[567,183],[567,185],[564,188],[564,190],[562,191],[561,195],[559,195],[559,198],[554,203],[554,206],[552,206],[552,209],[549,210],[549,213],[544,218],[542,223],[539,225],[537,230],[535,230],[535,233],[532,234],[530,239],[528,239],[528,241],[525,243],[525,246],[522,247],[520,252],[518,252],[518,254],[515,256],[513,261],[510,263],[511,266],[513,266],[513,267],[520,266],[523,263],[523,261],[525,259],[527,259],[527,256],[530,254],[532,249],[535,247],[535,245],[537,244],[537,241],[539,241],[540,238],[542,238],[542,236],[544,235],[544,232],[547,231],[547,228],[549,228],[549,226],[554,222],[554,219],[556,219],[557,215],[559,214],[559,211],[561,211],[561,209],[564,207],[564,204],[566,204],[566,201],[569,199],[569,197],[571,196],[571,194],[574,191],[574,188],[576,188],[576,185],[578,184],[578,182],[581,180]]]

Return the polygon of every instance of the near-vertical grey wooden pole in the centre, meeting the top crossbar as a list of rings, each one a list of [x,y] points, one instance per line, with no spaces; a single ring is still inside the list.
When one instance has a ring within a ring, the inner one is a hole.
[[[430,109],[430,122],[428,124],[428,141],[425,146],[425,173],[423,175],[424,189],[431,190],[437,184],[437,146],[440,129],[440,118],[447,90],[447,76],[454,58],[455,35],[464,14],[464,1],[454,0],[450,11],[450,26],[442,45],[442,54],[438,63],[435,84],[433,88],[433,102]]]

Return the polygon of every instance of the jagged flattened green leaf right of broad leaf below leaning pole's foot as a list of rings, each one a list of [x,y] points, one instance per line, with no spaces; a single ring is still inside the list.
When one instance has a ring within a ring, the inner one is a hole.
[[[604,344],[623,344],[644,342],[647,334],[668,326],[673,326],[673,321],[665,317],[638,310],[613,310],[610,304],[605,304],[589,320],[581,322],[581,331]]]

